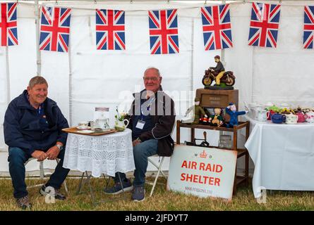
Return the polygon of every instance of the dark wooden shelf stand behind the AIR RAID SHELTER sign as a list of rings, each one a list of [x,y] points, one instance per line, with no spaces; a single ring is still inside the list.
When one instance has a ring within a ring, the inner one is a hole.
[[[216,131],[228,131],[234,133],[234,145],[233,148],[223,148],[227,150],[236,150],[238,152],[238,158],[245,156],[245,175],[238,176],[236,175],[234,179],[234,193],[236,193],[236,186],[241,183],[245,183],[248,186],[248,150],[246,148],[238,148],[238,130],[246,128],[246,140],[248,140],[248,135],[250,131],[250,122],[239,122],[238,126],[234,128],[227,127],[212,127],[209,125],[202,124],[183,124],[180,120],[176,121],[176,144],[180,143],[180,128],[186,127],[191,129],[191,142],[195,139],[195,129],[212,129]],[[211,148],[219,148],[218,146],[210,146]]]

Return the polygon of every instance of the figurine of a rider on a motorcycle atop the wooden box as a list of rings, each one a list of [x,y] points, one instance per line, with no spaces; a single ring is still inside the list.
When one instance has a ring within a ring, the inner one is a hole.
[[[205,88],[210,86],[215,80],[215,87],[219,89],[233,89],[234,83],[236,82],[236,77],[234,77],[234,72],[224,71],[224,65],[220,61],[220,56],[215,56],[215,62],[217,63],[216,67],[210,67],[208,70],[205,70],[205,75],[202,79],[202,83]]]

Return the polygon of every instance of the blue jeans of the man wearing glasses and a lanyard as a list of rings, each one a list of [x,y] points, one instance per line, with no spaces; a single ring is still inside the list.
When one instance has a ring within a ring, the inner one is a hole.
[[[144,186],[145,184],[145,173],[147,171],[148,160],[147,158],[156,155],[158,148],[158,140],[150,139],[139,143],[135,147],[133,147],[133,155],[135,162],[135,171],[134,171],[134,182],[133,186]],[[126,179],[126,174],[119,172],[121,180]],[[115,182],[119,182],[118,173],[114,177]]]

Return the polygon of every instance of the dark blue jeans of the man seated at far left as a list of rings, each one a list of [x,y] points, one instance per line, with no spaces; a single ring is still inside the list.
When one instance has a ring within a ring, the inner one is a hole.
[[[65,146],[64,146],[65,149]],[[52,186],[56,189],[61,187],[61,184],[66,179],[70,169],[62,167],[64,164],[65,150],[61,150],[58,155],[60,162],[56,166],[54,173],[50,176],[46,186]],[[28,195],[25,184],[25,165],[24,163],[30,158],[30,155],[25,153],[24,150],[16,147],[8,148],[8,169],[11,175],[13,184],[13,196],[14,198],[23,198]]]

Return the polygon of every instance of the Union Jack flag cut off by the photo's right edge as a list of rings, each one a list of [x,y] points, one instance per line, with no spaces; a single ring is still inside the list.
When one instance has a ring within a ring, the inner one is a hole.
[[[303,48],[313,49],[314,37],[314,6],[304,7]]]

